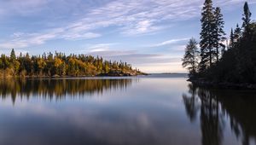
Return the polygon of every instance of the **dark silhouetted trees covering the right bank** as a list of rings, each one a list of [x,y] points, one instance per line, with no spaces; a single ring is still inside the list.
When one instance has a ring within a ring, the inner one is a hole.
[[[201,13],[200,49],[191,38],[183,56],[183,67],[188,68],[191,79],[256,83],[256,23],[251,16],[246,2],[242,26],[237,24],[226,37],[221,9],[206,0]]]

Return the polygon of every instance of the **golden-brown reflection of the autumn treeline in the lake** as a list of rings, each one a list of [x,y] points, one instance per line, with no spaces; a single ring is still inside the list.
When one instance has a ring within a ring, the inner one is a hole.
[[[92,96],[102,94],[104,90],[125,90],[138,79],[1,79],[0,96],[2,99],[11,97],[42,96],[44,99],[63,99],[66,96]]]

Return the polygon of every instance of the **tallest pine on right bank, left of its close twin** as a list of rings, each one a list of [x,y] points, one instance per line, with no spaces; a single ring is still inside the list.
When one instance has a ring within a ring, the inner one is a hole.
[[[214,54],[214,14],[212,0],[206,0],[201,13],[201,72],[204,72],[208,66],[212,66]]]

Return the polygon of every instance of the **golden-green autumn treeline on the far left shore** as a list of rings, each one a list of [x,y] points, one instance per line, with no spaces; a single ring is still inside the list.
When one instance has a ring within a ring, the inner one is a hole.
[[[55,52],[44,55],[15,55],[12,49],[9,56],[0,57],[0,77],[58,77],[96,75],[137,75],[130,64],[122,61],[104,61],[92,55],[65,55]]]

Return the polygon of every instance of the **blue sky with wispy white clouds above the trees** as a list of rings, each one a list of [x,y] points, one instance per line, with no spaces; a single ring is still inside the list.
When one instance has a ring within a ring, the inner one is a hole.
[[[225,32],[241,25],[244,0],[212,0]],[[247,0],[256,20],[256,0]],[[200,41],[204,0],[0,0],[0,54],[99,55],[145,73],[186,73],[189,38]]]

